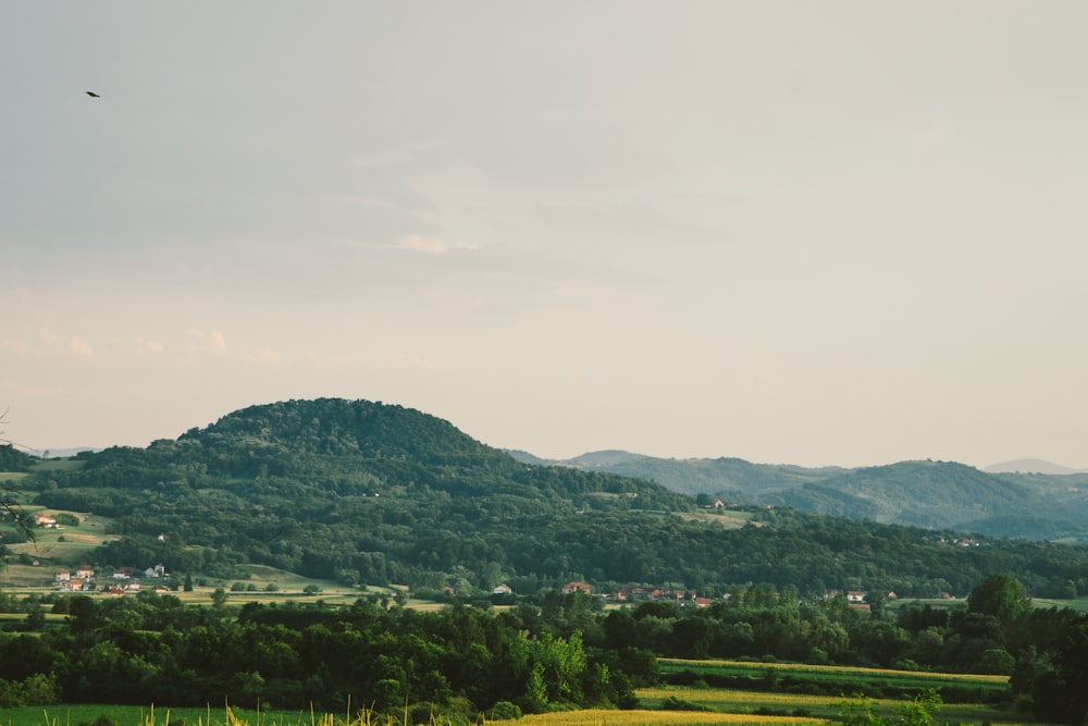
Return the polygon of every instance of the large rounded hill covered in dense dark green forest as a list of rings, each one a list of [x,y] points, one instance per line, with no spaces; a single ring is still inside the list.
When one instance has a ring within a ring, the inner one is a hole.
[[[517,462],[433,416],[366,401],[252,406],[146,448],[36,467],[20,488],[41,506],[113,518],[123,537],[94,565],[222,578],[256,563],[465,594],[586,580],[929,596],[965,594],[996,571],[1060,591],[1088,567],[1084,549],[963,547],[920,529],[707,509],[646,479]]]

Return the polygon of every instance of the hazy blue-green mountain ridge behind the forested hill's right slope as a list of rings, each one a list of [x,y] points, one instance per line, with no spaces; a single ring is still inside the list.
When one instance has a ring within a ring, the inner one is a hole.
[[[999,537],[1088,540],[1088,472],[1056,465],[1049,465],[1055,473],[1014,472],[1044,468],[1047,463],[1038,459],[1007,463],[1017,468],[1001,473],[955,462],[806,468],[725,457],[666,459],[620,451],[548,463],[648,479],[673,491],[729,503]],[[1021,468],[1022,463],[1031,465]]]

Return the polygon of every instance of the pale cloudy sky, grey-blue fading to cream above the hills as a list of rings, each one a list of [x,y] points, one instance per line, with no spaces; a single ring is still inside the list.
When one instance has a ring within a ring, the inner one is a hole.
[[[330,396],[552,458],[1088,467],[1085,27],[12,3],[0,431],[146,446]]]

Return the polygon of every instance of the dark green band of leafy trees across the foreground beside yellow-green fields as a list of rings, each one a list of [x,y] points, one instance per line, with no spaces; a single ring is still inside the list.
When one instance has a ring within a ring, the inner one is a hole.
[[[555,590],[500,611],[418,612],[364,599],[345,608],[317,601],[232,610],[225,599],[185,606],[151,592],[0,606],[24,608],[18,629],[38,631],[0,633],[0,705],[227,699],[337,712],[350,700],[471,719],[496,707],[633,707],[633,689],[660,681],[656,659],[673,656],[1002,674],[1011,677],[1010,706],[1039,721],[1078,724],[1088,712],[1088,615],[1033,608],[1019,581],[1004,575],[984,580],[960,606],[898,612],[769,585],[708,607],[651,601],[608,611],[599,599]],[[62,627],[45,620],[47,607],[66,616]]]

